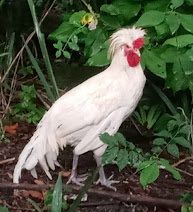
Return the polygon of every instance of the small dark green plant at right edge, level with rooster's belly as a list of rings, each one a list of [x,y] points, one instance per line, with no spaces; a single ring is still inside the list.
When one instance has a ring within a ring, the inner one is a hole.
[[[179,157],[179,146],[189,149],[192,152],[192,144],[190,142],[190,123],[185,117],[177,113],[171,116],[167,122],[165,129],[155,135],[157,138],[153,141],[152,152],[160,153],[166,148],[167,152],[174,157]]]

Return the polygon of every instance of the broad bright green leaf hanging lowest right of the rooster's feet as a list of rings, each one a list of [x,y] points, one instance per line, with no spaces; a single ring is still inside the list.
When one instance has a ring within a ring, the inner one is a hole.
[[[140,173],[140,183],[145,188],[159,177],[159,166],[156,162],[144,168]]]

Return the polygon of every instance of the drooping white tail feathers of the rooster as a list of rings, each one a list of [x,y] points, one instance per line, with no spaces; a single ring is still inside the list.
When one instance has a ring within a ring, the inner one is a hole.
[[[50,134],[50,133],[49,133]],[[19,183],[22,169],[31,171],[34,178],[37,178],[35,166],[39,162],[46,175],[52,179],[49,168],[55,169],[58,166],[57,156],[59,146],[55,136],[51,136],[52,146],[50,145],[50,137],[44,126],[39,126],[30,139],[30,142],[25,146],[19,156],[18,162],[13,173],[13,182]],[[53,135],[53,134],[52,134]]]

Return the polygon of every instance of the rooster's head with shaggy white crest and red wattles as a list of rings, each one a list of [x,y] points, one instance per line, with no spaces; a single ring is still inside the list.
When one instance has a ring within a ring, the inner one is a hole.
[[[139,49],[144,44],[145,31],[140,28],[123,28],[110,37],[109,56],[111,58],[118,50],[122,51],[130,67],[135,67],[140,62]]]

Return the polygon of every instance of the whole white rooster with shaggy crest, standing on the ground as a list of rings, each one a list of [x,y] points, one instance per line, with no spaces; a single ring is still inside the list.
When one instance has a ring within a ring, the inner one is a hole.
[[[39,162],[52,179],[49,168],[58,165],[59,148],[74,147],[73,165],[69,182],[81,185],[77,176],[78,157],[93,151],[102,185],[113,188],[105,177],[101,156],[106,145],[99,135],[115,134],[121,123],[134,111],[145,85],[140,64],[139,49],[145,32],[139,28],[123,28],[110,38],[110,66],[60,97],[43,116],[37,129],[19,156],[13,174],[18,183],[22,169],[31,171],[36,178]]]

